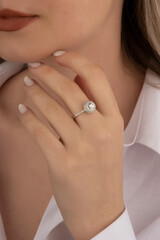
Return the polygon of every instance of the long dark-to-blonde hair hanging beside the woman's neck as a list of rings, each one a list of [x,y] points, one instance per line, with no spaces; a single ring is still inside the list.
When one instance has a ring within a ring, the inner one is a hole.
[[[121,44],[140,74],[150,68],[160,75],[160,0],[124,0]]]

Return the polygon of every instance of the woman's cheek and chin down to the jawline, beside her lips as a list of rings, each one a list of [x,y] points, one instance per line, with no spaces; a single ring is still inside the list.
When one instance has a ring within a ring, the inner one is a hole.
[[[104,23],[111,2],[39,0],[41,18],[36,23],[19,33],[0,34],[0,55],[9,61],[34,62],[58,49],[76,48]]]

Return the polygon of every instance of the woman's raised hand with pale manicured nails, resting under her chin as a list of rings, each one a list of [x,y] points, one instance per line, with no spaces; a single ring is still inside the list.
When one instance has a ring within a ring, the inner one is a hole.
[[[109,81],[99,65],[73,51],[55,59],[78,74],[77,83],[41,64],[37,68],[29,67],[35,84],[24,85],[24,88],[61,140],[31,109],[20,115],[20,119],[46,156],[54,197],[66,226],[74,239],[89,240],[125,209],[122,187],[124,122]],[[95,102],[96,110],[84,112],[73,120],[35,79],[59,95],[72,114],[81,111],[89,100]]]

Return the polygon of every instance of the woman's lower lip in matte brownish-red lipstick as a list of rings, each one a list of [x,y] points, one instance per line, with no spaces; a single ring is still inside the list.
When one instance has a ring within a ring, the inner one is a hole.
[[[38,17],[0,17],[0,31],[12,32],[26,27]]]

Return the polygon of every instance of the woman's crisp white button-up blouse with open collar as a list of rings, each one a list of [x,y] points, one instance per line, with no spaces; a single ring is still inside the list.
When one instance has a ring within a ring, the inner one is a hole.
[[[0,86],[26,68],[2,63]],[[149,68],[124,131],[123,194],[125,211],[91,240],[160,240],[160,76]],[[73,237],[52,196],[34,240],[64,239]],[[0,240],[6,240],[1,215]]]

